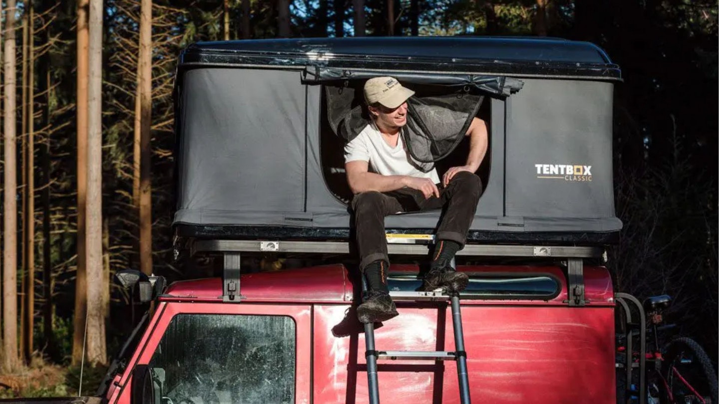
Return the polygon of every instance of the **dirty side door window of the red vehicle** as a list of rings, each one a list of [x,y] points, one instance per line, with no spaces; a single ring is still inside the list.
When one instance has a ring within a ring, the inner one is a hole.
[[[287,316],[175,316],[150,360],[157,401],[294,403],[295,334]]]

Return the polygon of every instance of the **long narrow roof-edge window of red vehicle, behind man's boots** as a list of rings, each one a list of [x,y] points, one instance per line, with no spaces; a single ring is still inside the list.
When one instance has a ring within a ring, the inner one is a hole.
[[[422,281],[417,275],[390,274],[390,290],[418,290]],[[546,274],[470,274],[470,283],[460,296],[463,299],[549,300],[559,295],[559,280]]]

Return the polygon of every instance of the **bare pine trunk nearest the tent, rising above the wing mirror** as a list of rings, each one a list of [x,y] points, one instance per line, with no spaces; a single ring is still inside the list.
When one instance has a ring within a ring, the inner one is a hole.
[[[140,101],[140,192],[139,192],[139,267],[152,275],[152,184],[150,164],[150,120],[152,119],[152,0],[142,0],[139,30]]]

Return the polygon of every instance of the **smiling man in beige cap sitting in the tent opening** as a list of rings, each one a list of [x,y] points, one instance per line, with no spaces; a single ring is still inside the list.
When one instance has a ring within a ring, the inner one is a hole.
[[[456,293],[469,283],[467,275],[455,272],[450,262],[464,246],[482,193],[475,171],[487,152],[487,127],[481,119],[472,120],[466,133],[470,137],[467,164],[450,168],[440,182],[434,167],[429,172],[419,169],[400,135],[407,123],[406,101],[413,94],[395,78],[368,80],[365,101],[370,123],[344,147],[347,182],[354,193],[359,268],[369,292],[357,308],[362,323],[385,321],[398,314],[387,287],[389,258],[384,220],[390,214],[446,206],[422,288]]]

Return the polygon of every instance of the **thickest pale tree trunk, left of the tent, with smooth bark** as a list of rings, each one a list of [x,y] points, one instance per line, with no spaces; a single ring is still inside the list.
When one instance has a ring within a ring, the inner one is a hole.
[[[102,37],[103,1],[90,0],[88,13],[88,143],[87,143],[87,356],[105,364],[104,287],[102,264]],[[142,185],[141,185],[142,186]]]

